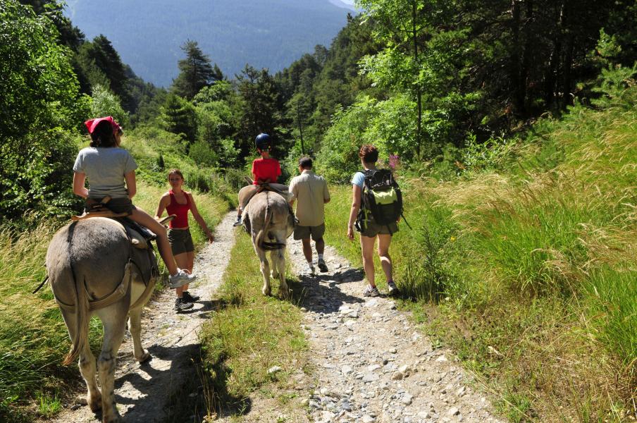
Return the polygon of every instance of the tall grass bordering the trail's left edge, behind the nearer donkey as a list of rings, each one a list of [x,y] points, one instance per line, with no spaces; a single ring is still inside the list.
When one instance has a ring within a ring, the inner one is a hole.
[[[154,214],[166,188],[140,182],[135,204]],[[195,193],[204,219],[214,228],[228,210],[225,200]],[[191,219],[192,220],[192,219]],[[48,242],[65,221],[43,223],[31,232],[14,233],[0,227],[0,420],[31,422],[35,413],[54,414],[58,393],[72,392],[81,384],[76,364],[62,367],[70,342],[51,289],[44,286],[44,257]],[[192,222],[194,223],[194,222]],[[193,238],[201,247],[206,238],[194,223]],[[90,324],[95,353],[101,345],[101,322]],[[35,405],[35,404],[38,405]]]

